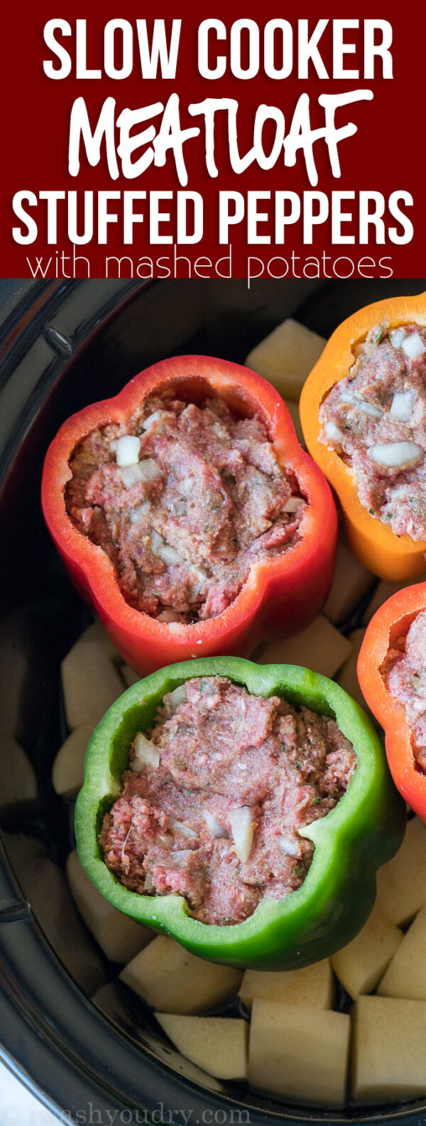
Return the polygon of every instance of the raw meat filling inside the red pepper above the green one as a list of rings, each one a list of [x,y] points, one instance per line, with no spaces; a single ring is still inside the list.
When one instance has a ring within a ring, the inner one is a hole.
[[[94,430],[70,462],[66,510],[111,558],[125,599],[165,622],[226,609],[259,558],[292,547],[305,501],[256,415],[156,397]]]

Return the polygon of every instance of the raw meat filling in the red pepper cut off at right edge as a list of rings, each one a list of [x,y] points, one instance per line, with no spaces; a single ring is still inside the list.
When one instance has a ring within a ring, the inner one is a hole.
[[[388,692],[405,704],[414,754],[426,772],[426,610],[389,650],[382,676]]]

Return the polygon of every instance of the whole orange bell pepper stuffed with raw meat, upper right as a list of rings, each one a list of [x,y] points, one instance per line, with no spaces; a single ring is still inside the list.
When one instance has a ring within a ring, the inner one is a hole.
[[[426,552],[426,294],[380,301],[344,321],[308,376],[300,418],[354,553],[383,579],[418,578]]]

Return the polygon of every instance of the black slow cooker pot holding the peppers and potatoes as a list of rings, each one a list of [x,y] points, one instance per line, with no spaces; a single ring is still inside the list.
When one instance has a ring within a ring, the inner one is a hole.
[[[34,858],[56,870],[73,843],[72,805],[54,794],[51,770],[65,735],[60,663],[89,616],[39,504],[43,457],[63,419],[165,356],[242,363],[285,316],[328,336],[360,305],[424,288],[422,279],[0,283],[0,1053],[60,1121],[425,1121],[423,1102],[328,1112],[207,1079],[112,981],[111,965],[102,1009],[93,1004],[75,980],[72,927],[65,920],[61,957],[46,937],[61,910],[56,885],[46,879],[35,894],[29,878]]]

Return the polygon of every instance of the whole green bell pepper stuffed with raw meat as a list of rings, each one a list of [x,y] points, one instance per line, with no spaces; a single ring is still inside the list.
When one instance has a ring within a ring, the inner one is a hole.
[[[212,962],[294,968],[365,922],[405,805],[343,689],[294,665],[188,661],[90,740],[81,864],[120,911]]]

